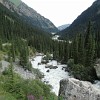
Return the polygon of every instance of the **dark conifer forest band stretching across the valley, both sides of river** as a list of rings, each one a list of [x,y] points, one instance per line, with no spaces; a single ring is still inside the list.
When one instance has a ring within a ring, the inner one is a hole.
[[[16,13],[10,12],[3,5],[0,5],[0,15],[0,49],[4,51],[4,43],[11,44],[7,48],[8,55],[13,58],[13,61],[16,56],[19,57],[20,64],[25,67],[30,56],[29,48],[33,52],[52,53],[53,59],[63,63],[67,63],[71,58],[75,64],[82,64],[85,70],[88,66],[93,68],[95,59],[100,57],[99,32],[94,34],[91,21],[87,25],[86,34],[77,34],[70,43],[68,38],[65,41],[52,40],[49,34],[26,24]],[[90,76],[95,79],[96,75],[92,75],[95,72],[94,69],[91,69],[90,72]],[[91,78],[86,80],[91,80]]]

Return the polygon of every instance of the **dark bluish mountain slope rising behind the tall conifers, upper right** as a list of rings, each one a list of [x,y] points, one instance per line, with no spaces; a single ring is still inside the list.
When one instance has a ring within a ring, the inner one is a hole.
[[[95,31],[100,31],[100,0],[96,0],[87,10],[82,12],[68,28],[59,33],[62,33],[63,37],[67,35],[72,37],[77,33],[84,34],[89,21],[91,21]]]

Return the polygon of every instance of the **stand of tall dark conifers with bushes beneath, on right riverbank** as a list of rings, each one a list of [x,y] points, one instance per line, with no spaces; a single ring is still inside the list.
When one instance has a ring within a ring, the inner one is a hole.
[[[77,34],[70,47],[68,70],[75,78],[93,82],[97,79],[94,64],[100,58],[100,34],[93,32],[91,22],[87,26],[86,34]]]

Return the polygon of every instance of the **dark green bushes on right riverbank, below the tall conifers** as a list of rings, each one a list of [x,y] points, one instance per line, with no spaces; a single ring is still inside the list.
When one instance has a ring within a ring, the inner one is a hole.
[[[73,59],[69,59],[67,65],[67,70],[69,73],[77,79],[90,82],[93,82],[94,79],[96,79],[96,73],[92,67],[85,67],[81,64],[74,64]]]

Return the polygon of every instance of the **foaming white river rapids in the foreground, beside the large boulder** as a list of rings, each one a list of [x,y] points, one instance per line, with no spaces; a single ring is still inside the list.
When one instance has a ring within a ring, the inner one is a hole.
[[[63,70],[63,67],[67,67],[67,65],[58,64],[57,61],[52,60],[47,64],[39,64],[42,61],[42,56],[36,56],[34,61],[31,61],[33,68],[38,68],[42,73],[44,73],[44,78],[42,81],[50,84],[52,86],[52,92],[58,95],[59,92],[59,82],[61,79],[69,78],[68,72]],[[57,66],[56,69],[45,68],[47,65]],[[100,88],[100,81],[97,81],[94,84],[97,88]]]

